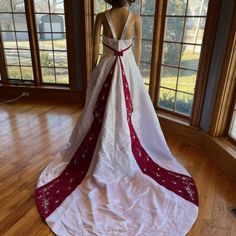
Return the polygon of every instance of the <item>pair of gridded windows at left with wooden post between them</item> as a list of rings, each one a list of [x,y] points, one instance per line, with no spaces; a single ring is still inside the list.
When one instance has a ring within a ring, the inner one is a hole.
[[[7,83],[68,85],[64,1],[0,0],[0,4]]]

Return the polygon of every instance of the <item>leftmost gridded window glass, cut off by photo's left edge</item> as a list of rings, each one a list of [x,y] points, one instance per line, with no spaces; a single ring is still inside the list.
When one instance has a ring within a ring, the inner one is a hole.
[[[32,83],[32,59],[23,0],[1,3],[0,26],[9,80]]]

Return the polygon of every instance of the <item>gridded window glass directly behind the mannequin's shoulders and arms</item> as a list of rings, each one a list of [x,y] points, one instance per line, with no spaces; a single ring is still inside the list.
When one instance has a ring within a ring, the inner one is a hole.
[[[149,88],[150,81],[155,3],[155,0],[137,0],[129,7],[132,12],[136,12],[142,16],[143,35],[140,72],[147,89]],[[94,0],[94,15],[108,8],[109,5],[104,4],[103,0]],[[146,25],[148,25],[148,27],[145,27]]]

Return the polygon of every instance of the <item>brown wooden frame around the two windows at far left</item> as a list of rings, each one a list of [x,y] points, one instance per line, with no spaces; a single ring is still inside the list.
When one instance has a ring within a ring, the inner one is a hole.
[[[29,36],[29,44],[30,44],[30,53],[32,58],[32,70],[33,70],[33,80],[30,81],[31,83],[27,83],[21,80],[10,80],[8,78],[6,62],[5,62],[5,55],[3,49],[3,42],[2,38],[0,37],[0,68],[2,72],[2,81],[0,84],[2,86],[12,86],[12,85],[21,85],[26,87],[58,87],[59,89],[65,87],[70,89],[76,89],[76,81],[75,81],[75,65],[73,60],[73,19],[72,14],[70,12],[73,9],[71,1],[64,2],[64,11],[65,11],[65,28],[66,28],[66,41],[67,41],[67,61],[68,61],[68,84],[59,84],[59,83],[44,83],[42,81],[42,72],[41,72],[41,64],[40,64],[40,55],[39,55],[39,42],[37,37],[37,29],[36,29],[36,20],[35,20],[35,9],[34,9],[34,1],[33,0],[24,0],[25,5],[25,15],[26,15],[26,22],[28,27],[28,34]]]

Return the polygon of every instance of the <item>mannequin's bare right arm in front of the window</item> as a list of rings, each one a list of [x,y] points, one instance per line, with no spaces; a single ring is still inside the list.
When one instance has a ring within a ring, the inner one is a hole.
[[[140,65],[141,46],[142,46],[142,19],[141,16],[136,15],[135,19],[135,36],[134,36],[134,57],[137,65]]]

